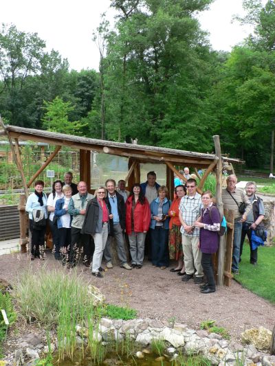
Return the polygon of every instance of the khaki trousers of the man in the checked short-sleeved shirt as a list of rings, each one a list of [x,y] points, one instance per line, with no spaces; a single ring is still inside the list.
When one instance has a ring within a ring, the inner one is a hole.
[[[201,251],[198,248],[198,236],[182,235],[182,249],[184,251],[184,266],[188,275],[203,277],[201,266]]]

